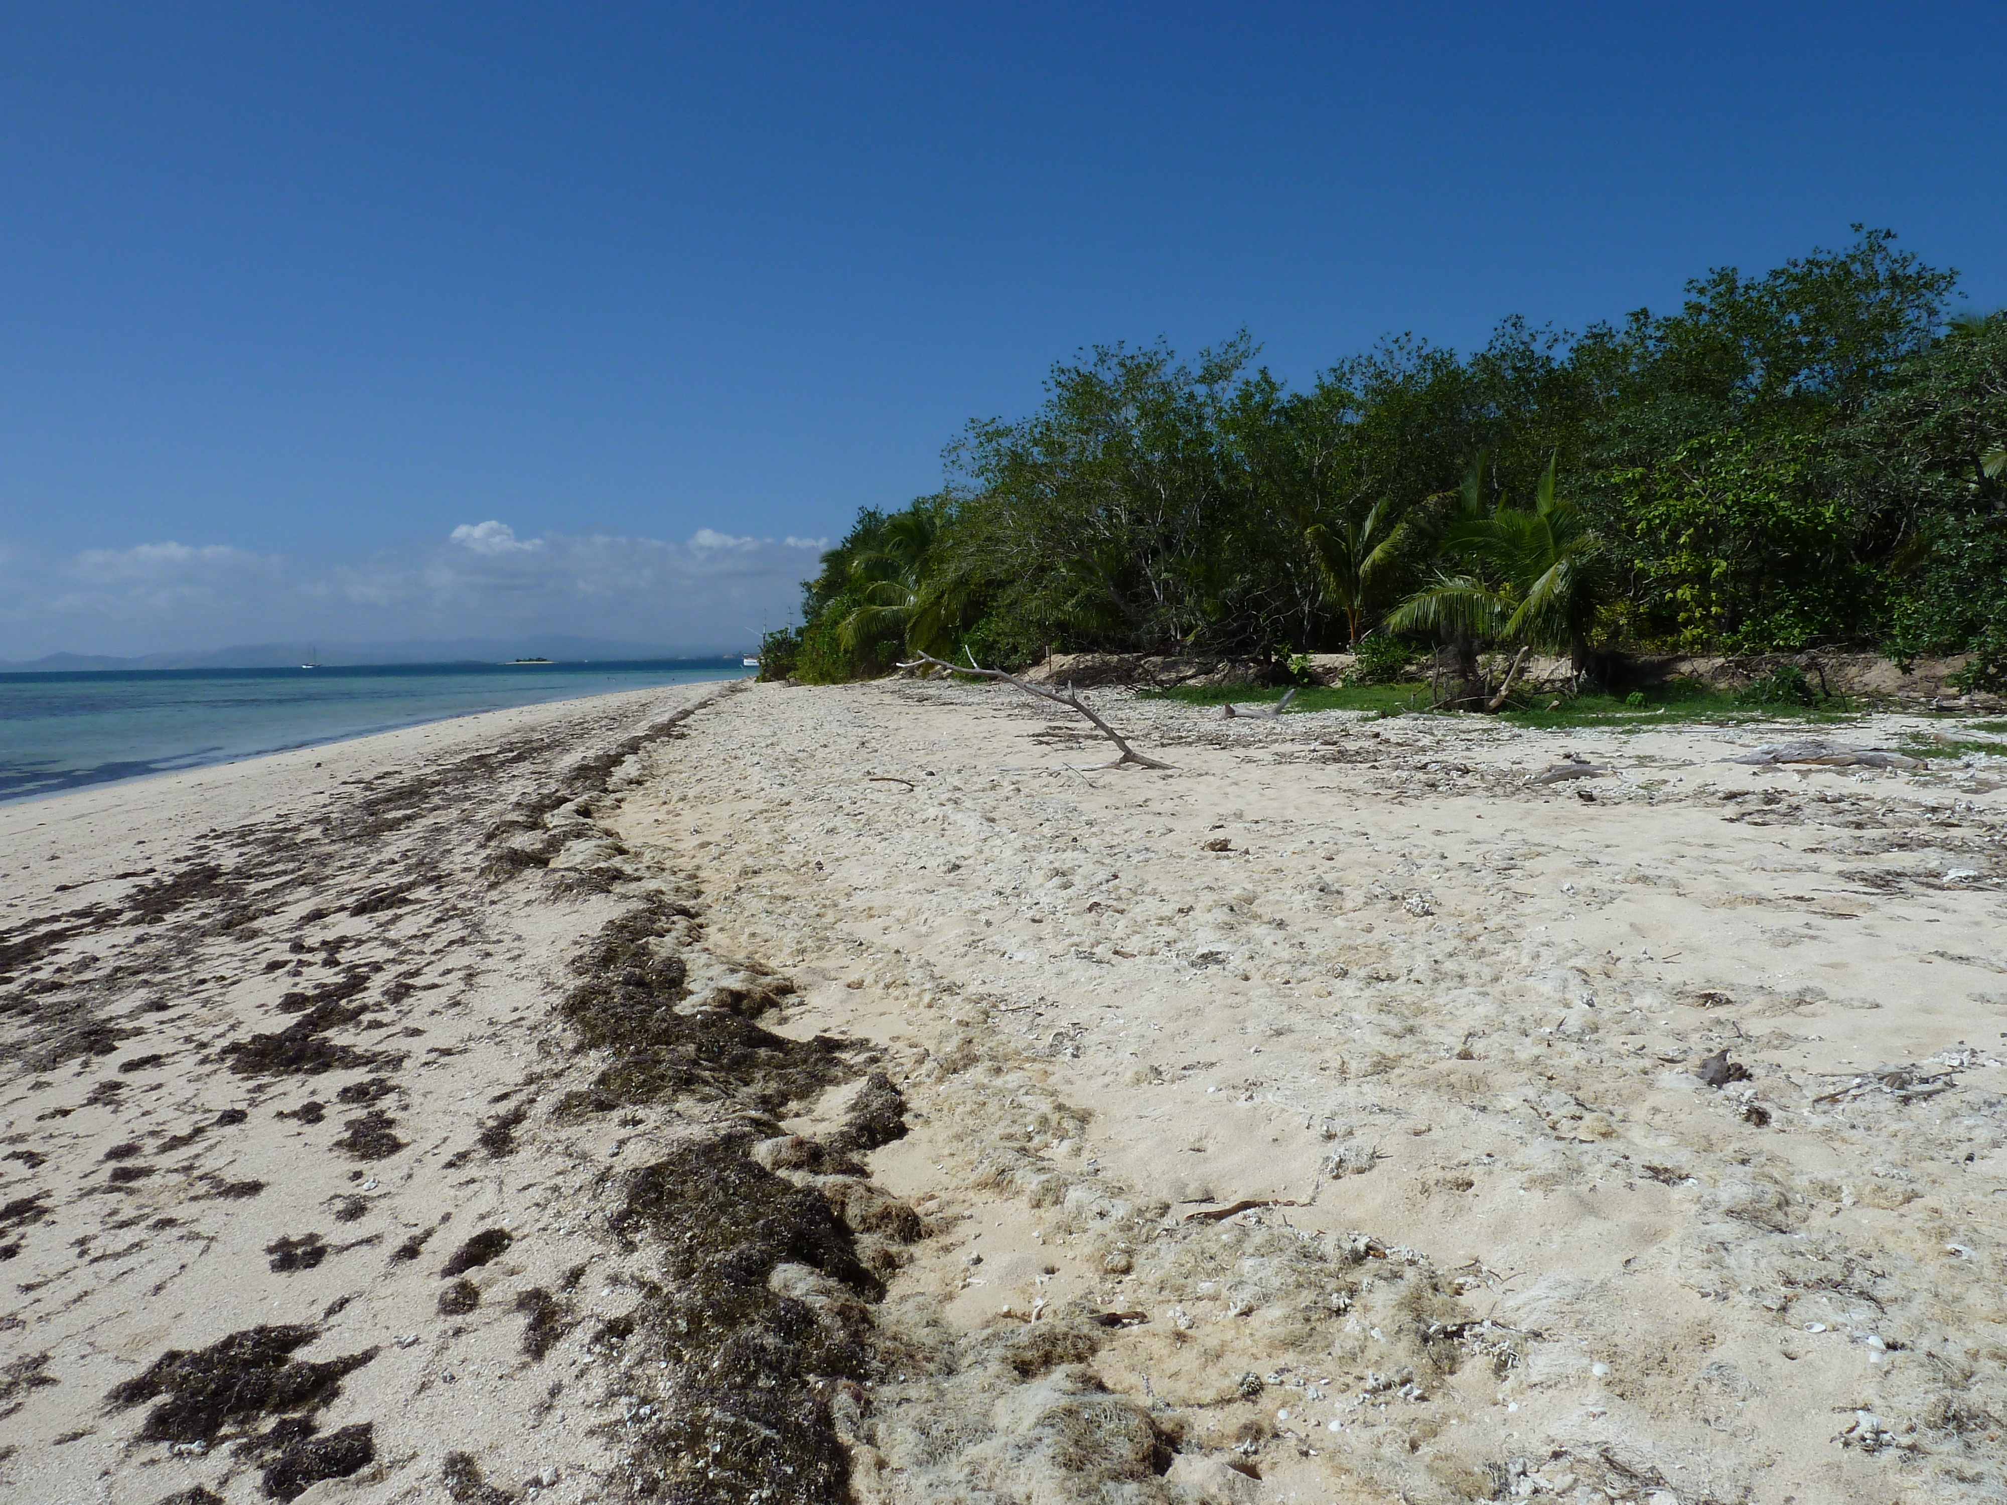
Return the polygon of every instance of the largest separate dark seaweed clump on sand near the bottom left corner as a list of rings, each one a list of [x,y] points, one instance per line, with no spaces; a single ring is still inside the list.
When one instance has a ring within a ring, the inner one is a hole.
[[[293,1359],[319,1336],[311,1326],[255,1326],[231,1332],[207,1348],[169,1348],[132,1379],[116,1385],[106,1401],[132,1407],[161,1403],[147,1415],[140,1441],[215,1443],[227,1427],[247,1429],[275,1413],[313,1413],[341,1391],[341,1379],[371,1359],[375,1348],[321,1363]]]

